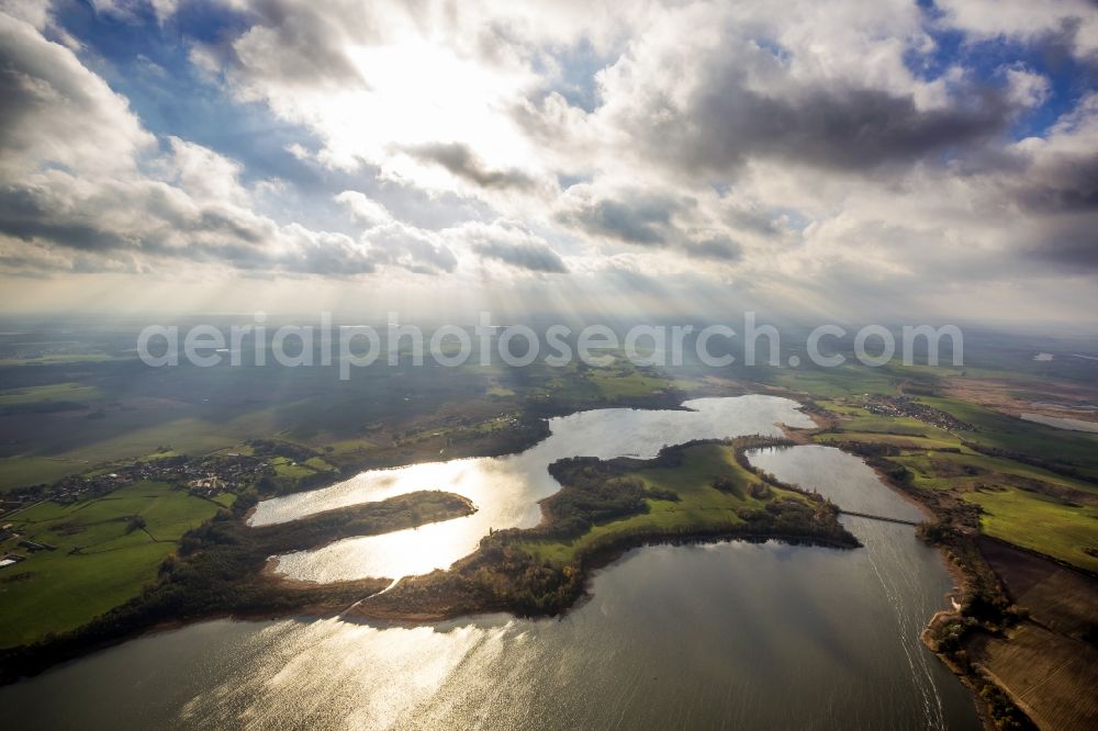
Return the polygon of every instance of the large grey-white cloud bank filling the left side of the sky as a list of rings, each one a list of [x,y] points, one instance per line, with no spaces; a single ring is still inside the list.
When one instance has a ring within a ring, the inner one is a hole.
[[[456,266],[445,244],[360,193],[340,196],[358,221],[376,226],[359,239],[258,213],[239,162],[176,136],[164,137],[161,149],[126,100],[69,48],[7,14],[0,85],[0,235],[9,271],[142,272],[182,262],[354,277]]]

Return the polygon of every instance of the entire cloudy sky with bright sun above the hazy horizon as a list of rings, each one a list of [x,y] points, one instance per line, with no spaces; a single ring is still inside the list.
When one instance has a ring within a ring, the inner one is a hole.
[[[1091,323],[1096,80],[1086,0],[0,0],[0,302]]]

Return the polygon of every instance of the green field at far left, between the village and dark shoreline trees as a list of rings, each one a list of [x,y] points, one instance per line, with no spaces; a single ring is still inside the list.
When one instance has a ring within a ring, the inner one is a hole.
[[[220,497],[227,504],[233,496]],[[27,556],[0,569],[0,646],[74,629],[136,596],[156,578],[176,541],[217,510],[214,502],[186,491],[143,482],[14,516],[11,522],[23,538],[57,550],[30,553],[12,539],[0,544],[4,553]],[[132,516],[144,519],[144,529],[134,527]]]

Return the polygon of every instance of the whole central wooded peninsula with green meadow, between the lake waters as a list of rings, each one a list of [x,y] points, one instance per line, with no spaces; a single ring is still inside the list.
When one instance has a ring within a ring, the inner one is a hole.
[[[791,445],[741,437],[665,447],[651,460],[579,457],[549,471],[560,492],[541,524],[493,531],[447,571],[405,578],[348,614],[433,621],[485,611],[550,616],[584,593],[591,572],[652,543],[778,539],[856,548],[820,495],[751,466],[747,451]]]

